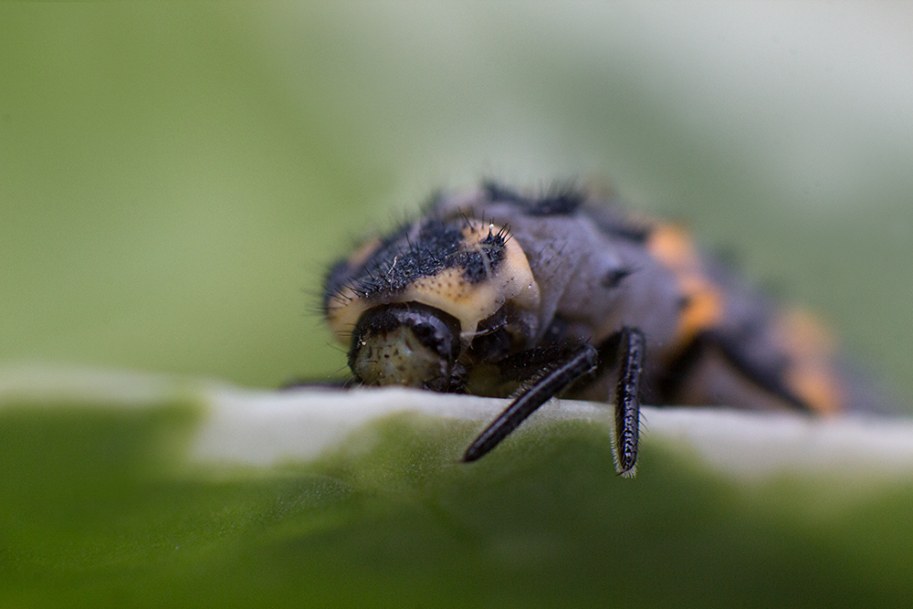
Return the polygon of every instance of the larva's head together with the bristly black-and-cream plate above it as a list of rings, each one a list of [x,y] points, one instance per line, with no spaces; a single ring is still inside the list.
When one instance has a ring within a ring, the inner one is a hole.
[[[537,310],[519,244],[490,223],[431,218],[375,239],[331,269],[324,311],[362,383],[446,386],[480,321]]]

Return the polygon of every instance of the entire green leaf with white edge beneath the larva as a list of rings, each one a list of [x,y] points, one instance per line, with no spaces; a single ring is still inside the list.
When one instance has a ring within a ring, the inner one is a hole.
[[[913,593],[907,422],[645,408],[640,473],[624,479],[602,404],[548,404],[466,465],[502,401],[21,370],[0,389],[5,607]]]

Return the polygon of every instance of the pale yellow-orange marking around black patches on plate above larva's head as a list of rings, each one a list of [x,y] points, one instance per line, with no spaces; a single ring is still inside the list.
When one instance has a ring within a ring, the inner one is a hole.
[[[467,251],[484,251],[486,246],[481,241],[488,236],[489,230],[495,234],[501,228],[468,220],[463,228],[463,247]],[[532,276],[530,262],[523,249],[514,239],[508,239],[505,244],[504,258],[498,264],[498,271],[492,274],[490,269],[487,270],[486,280],[470,283],[463,278],[462,268],[445,268],[434,276],[416,279],[398,294],[383,298],[362,299],[351,288],[343,288],[339,302],[331,303],[327,321],[336,338],[347,345],[352,329],[365,310],[394,302],[421,302],[456,317],[460,322],[461,337],[469,341],[478,322],[506,302],[512,302],[523,310],[539,308],[539,285]]]

